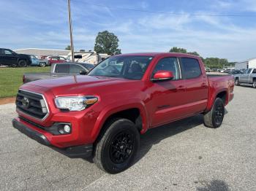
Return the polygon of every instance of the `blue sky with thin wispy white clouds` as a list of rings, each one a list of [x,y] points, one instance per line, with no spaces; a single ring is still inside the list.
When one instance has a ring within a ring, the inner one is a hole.
[[[183,47],[204,58],[256,58],[255,0],[71,0],[71,9],[75,50],[93,50],[98,32],[108,30],[122,53]],[[68,44],[66,0],[0,0],[0,47]]]

